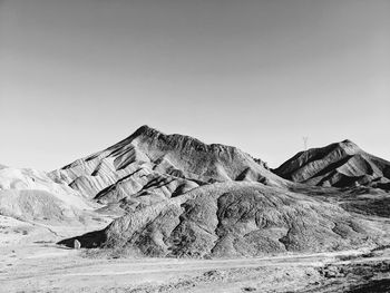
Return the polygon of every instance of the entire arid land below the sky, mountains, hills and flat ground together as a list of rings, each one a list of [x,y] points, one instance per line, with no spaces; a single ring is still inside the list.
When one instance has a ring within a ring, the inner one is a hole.
[[[148,126],[0,166],[0,292],[390,292],[389,182],[350,140],[270,169]]]

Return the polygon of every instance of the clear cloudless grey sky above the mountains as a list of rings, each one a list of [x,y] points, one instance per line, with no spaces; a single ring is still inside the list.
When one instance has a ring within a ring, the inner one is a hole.
[[[0,0],[0,164],[55,169],[147,124],[272,167],[390,160],[389,0]]]

